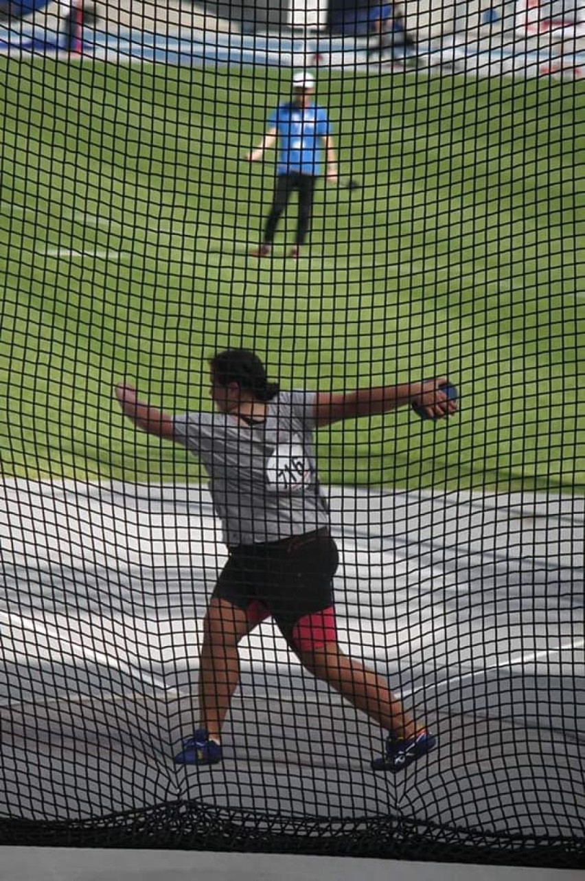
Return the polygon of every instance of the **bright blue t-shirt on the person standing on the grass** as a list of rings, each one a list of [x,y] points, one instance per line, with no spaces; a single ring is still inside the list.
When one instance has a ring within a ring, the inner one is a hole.
[[[331,132],[323,107],[287,101],[270,115],[268,128],[277,130],[280,142],[276,174],[323,174],[323,138]]]

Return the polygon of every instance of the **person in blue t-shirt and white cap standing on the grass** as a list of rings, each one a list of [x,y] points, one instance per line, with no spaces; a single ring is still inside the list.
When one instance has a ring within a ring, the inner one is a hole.
[[[300,255],[311,224],[315,183],[323,174],[324,152],[327,182],[337,183],[337,159],[327,112],[313,101],[315,78],[302,71],[294,75],[292,85],[293,100],[283,102],[274,110],[261,144],[245,157],[248,162],[257,162],[280,137],[272,209],[262,244],[252,251],[253,257],[270,254],[276,226],[294,189],[298,190],[298,220],[295,245],[289,256],[297,258]]]

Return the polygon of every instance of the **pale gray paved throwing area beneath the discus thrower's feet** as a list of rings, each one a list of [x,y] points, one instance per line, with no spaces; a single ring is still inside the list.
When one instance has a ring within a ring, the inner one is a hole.
[[[242,644],[223,766],[172,765],[226,559],[199,486],[0,492],[0,815],[197,797],[582,835],[583,500],[331,489],[340,641],[439,736],[395,781],[369,772],[379,729],[303,672],[271,622]]]

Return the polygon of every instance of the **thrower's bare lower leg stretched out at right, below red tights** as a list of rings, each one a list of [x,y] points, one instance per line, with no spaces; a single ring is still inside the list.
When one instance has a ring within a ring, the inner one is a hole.
[[[413,717],[391,693],[384,677],[344,655],[336,642],[311,650],[294,650],[313,676],[331,685],[385,731],[394,737],[414,737],[417,733]]]

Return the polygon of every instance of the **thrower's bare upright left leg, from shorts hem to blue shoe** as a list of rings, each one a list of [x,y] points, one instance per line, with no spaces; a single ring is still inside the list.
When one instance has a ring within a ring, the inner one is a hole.
[[[223,722],[239,682],[238,642],[253,630],[245,611],[212,599],[203,623],[199,672],[200,727],[219,743]]]

